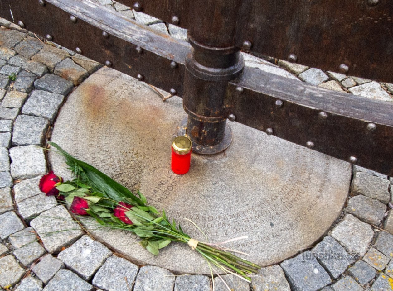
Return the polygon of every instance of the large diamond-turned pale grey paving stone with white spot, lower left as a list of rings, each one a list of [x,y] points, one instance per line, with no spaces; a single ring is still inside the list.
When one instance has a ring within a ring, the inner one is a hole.
[[[90,280],[112,252],[102,243],[83,236],[57,258],[85,280]]]

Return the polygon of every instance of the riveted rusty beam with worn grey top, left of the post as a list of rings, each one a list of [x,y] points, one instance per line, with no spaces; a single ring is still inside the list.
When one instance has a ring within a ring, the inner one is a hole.
[[[112,68],[133,77],[140,75],[143,81],[167,92],[183,93],[185,54],[190,48],[185,42],[87,1],[47,0],[41,6],[35,0],[1,0],[1,9],[4,18],[13,21],[11,9],[15,22],[22,21],[38,35],[51,35],[57,44],[74,51],[80,48],[82,55],[102,64],[109,61]],[[75,16],[76,22],[70,16]]]

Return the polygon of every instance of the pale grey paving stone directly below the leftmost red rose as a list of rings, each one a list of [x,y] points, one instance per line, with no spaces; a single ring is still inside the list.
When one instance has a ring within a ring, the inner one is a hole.
[[[57,206],[55,196],[46,196],[40,193],[17,203],[20,216],[26,221],[37,217],[41,212]]]

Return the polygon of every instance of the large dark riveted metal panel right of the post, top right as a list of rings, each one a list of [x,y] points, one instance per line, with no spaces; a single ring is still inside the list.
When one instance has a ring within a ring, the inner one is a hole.
[[[351,76],[393,82],[393,0],[243,0],[235,45]],[[288,59],[289,58],[289,59]]]

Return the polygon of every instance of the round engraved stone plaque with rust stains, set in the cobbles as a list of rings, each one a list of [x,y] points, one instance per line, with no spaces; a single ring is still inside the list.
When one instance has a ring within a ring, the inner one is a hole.
[[[171,171],[171,142],[186,116],[182,99],[163,102],[151,87],[110,68],[81,84],[61,108],[51,140],[91,163],[148,202],[164,208],[191,237],[222,242],[266,266],[307,248],[328,231],[347,197],[347,162],[230,123],[233,141],[213,156],[193,154],[190,171]],[[70,174],[59,155],[53,169]],[[153,256],[134,234],[87,223],[92,235],[135,262],[179,273],[209,273],[187,245],[173,243]]]

